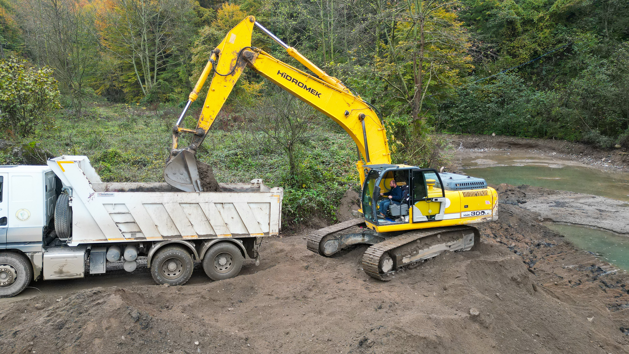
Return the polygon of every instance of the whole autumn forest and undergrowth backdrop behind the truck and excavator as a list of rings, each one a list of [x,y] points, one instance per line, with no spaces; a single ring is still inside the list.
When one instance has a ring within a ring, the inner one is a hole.
[[[442,164],[434,133],[629,145],[623,0],[0,0],[3,132],[88,154],[105,180],[159,180],[169,129],[209,53],[248,14],[376,106],[394,163]],[[300,67],[260,31],[253,46]],[[138,126],[159,136],[155,148],[133,140]],[[104,141],[110,131],[129,136]],[[355,174],[342,130],[252,71],[213,134],[199,156],[232,171],[220,179],[268,174],[292,186],[286,205],[330,209],[308,186],[338,200]],[[273,154],[287,167],[260,158]],[[347,163],[320,172],[335,161]]]

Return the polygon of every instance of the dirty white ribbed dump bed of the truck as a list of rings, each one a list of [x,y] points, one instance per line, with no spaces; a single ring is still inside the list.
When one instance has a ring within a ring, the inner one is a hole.
[[[167,183],[103,183],[86,156],[56,157],[48,166],[69,190],[70,246],[271,236],[281,226],[283,189],[262,180],[184,192]]]

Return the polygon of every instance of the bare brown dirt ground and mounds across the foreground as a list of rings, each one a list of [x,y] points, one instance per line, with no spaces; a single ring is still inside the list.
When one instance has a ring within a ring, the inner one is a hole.
[[[479,227],[477,251],[442,254],[391,282],[362,271],[365,246],[325,258],[300,231],[265,239],[260,266],[233,279],[3,302],[0,352],[629,353],[626,272],[538,214],[499,212]]]

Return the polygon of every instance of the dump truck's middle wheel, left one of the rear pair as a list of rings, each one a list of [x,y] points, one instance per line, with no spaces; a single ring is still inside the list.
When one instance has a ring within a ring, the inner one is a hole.
[[[166,246],[153,256],[151,275],[159,285],[184,285],[192,277],[192,256],[179,246]]]

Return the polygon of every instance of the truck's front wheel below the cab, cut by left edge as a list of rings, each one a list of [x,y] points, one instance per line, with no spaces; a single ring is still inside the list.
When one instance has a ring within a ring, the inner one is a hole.
[[[33,266],[25,256],[0,253],[0,297],[18,295],[33,280]]]

